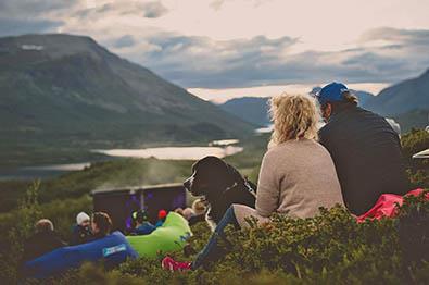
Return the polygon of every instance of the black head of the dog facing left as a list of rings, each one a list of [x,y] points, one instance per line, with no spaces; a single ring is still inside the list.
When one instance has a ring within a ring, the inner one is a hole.
[[[216,157],[205,157],[192,165],[192,175],[184,186],[193,196],[213,197],[230,187],[240,175],[232,166]]]

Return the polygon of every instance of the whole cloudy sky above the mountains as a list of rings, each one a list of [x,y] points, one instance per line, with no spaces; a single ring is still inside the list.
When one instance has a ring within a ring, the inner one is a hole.
[[[1,0],[0,36],[88,35],[211,100],[429,67],[429,0]]]

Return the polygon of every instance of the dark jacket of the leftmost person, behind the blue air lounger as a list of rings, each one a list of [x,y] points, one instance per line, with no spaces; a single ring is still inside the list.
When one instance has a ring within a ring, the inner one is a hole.
[[[66,245],[53,231],[36,233],[24,244],[23,263]]]

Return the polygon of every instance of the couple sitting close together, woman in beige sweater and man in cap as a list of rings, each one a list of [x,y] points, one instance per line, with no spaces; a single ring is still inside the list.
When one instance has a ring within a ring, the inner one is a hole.
[[[316,96],[281,95],[270,100],[274,132],[258,176],[255,209],[232,205],[193,261],[165,257],[171,271],[206,267],[225,255],[224,230],[258,223],[273,213],[312,218],[319,207],[344,205],[352,214],[368,211],[382,194],[409,190],[401,141],[386,119],[358,107],[345,85],[331,83]],[[324,120],[325,126],[318,127]]]

